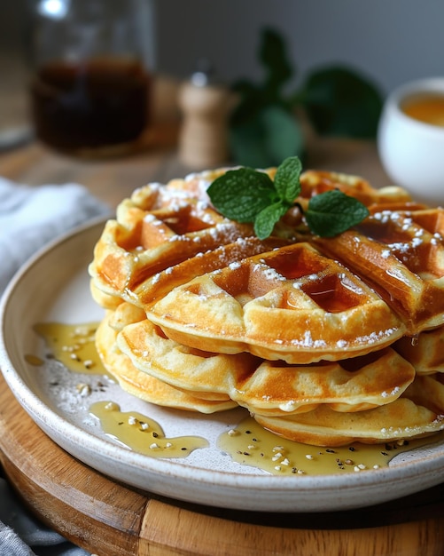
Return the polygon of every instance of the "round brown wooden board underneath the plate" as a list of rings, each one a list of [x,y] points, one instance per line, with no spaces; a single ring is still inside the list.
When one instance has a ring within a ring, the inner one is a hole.
[[[43,522],[98,556],[442,556],[444,483],[347,512],[241,512],[118,484],[60,449],[0,374],[0,460]]]

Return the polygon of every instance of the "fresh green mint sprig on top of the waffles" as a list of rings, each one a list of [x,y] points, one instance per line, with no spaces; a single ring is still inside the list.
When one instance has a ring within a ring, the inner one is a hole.
[[[238,168],[214,179],[207,194],[223,216],[252,222],[258,238],[266,239],[285,212],[297,203],[301,171],[298,156],[290,156],[278,166],[274,181],[263,171]],[[310,231],[322,237],[341,234],[369,216],[365,205],[339,189],[313,196],[305,211],[297,204]]]

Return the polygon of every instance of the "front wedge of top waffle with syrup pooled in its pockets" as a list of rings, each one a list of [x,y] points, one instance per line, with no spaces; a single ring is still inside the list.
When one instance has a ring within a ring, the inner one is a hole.
[[[358,276],[306,242],[197,276],[147,316],[181,344],[288,363],[362,355],[404,333]]]

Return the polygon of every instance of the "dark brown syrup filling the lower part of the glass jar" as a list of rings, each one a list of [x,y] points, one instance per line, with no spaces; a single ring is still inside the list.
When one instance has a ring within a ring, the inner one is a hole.
[[[136,60],[48,63],[31,83],[36,135],[67,151],[133,142],[149,123],[149,89]]]

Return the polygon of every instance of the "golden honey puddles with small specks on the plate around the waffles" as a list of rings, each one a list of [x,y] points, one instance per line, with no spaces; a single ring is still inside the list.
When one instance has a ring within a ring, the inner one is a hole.
[[[97,322],[68,325],[57,322],[39,323],[35,331],[44,338],[51,356],[67,370],[79,373],[106,374],[97,354],[94,338]],[[32,365],[43,360],[27,354]],[[208,447],[199,436],[167,438],[159,423],[136,411],[122,412],[114,401],[97,401],[90,405],[105,434],[115,441],[150,457],[186,457],[195,449]],[[235,427],[222,433],[217,448],[239,465],[247,465],[278,475],[328,475],[361,473],[386,467],[394,456],[410,449],[442,439],[443,434],[413,441],[386,444],[355,442],[340,448],[323,448],[285,440],[270,433],[246,417]]]

